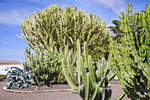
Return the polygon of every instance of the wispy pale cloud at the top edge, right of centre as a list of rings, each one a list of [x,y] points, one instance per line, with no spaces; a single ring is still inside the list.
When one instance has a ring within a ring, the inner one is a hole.
[[[100,5],[111,8],[116,14],[120,14],[120,11],[124,11],[126,8],[125,0],[89,0]]]

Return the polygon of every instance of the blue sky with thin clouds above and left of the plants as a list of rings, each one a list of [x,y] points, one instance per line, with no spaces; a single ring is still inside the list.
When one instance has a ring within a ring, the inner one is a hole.
[[[77,6],[86,14],[95,13],[111,25],[111,21],[118,19],[119,12],[125,11],[129,2],[133,11],[140,11],[150,0],[0,0],[0,59],[24,60],[27,44],[17,35],[21,34],[20,24],[24,18],[37,10],[52,4]]]

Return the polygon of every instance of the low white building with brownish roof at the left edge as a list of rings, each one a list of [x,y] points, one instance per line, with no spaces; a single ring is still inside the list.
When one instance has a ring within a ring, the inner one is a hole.
[[[23,65],[19,61],[0,60],[0,74],[6,75],[11,67],[23,69]]]

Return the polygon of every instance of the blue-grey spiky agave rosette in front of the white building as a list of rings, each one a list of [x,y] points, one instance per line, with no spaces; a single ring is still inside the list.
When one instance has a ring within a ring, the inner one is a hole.
[[[30,77],[23,70],[12,67],[11,70],[8,71],[6,82],[7,89],[28,88],[31,85]]]

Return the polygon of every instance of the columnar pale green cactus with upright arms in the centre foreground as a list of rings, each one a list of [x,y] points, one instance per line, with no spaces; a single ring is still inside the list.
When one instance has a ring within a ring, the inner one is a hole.
[[[93,60],[87,53],[87,43],[84,42],[81,52],[80,42],[77,40],[77,51],[68,50],[65,53],[60,50],[61,64],[64,76],[74,93],[80,94],[84,100],[110,100],[111,89],[109,81],[114,77],[111,72],[109,60],[105,67],[105,59],[101,64],[94,66]]]

